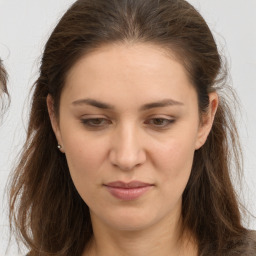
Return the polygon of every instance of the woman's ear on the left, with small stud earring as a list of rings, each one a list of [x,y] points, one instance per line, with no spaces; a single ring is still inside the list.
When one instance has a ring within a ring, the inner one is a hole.
[[[48,109],[52,129],[53,129],[53,132],[56,136],[58,144],[60,145],[59,149],[62,153],[64,153],[65,151],[64,151],[64,147],[63,147],[63,143],[62,143],[62,137],[61,137],[61,132],[60,132],[60,128],[59,128],[59,122],[58,122],[58,119],[57,119],[55,111],[54,111],[54,100],[53,100],[53,98],[50,94],[47,95],[46,103],[47,103],[47,109]],[[57,145],[56,145],[56,147],[57,147]]]

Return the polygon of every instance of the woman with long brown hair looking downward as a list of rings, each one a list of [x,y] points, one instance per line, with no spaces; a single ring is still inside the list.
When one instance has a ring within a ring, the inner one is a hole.
[[[224,85],[186,1],[76,1],[45,46],[11,184],[29,255],[255,255]]]

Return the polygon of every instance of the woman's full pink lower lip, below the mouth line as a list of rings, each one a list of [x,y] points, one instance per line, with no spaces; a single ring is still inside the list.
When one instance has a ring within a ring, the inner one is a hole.
[[[108,191],[114,197],[121,200],[135,200],[145,194],[152,186],[138,187],[138,188],[115,188],[106,186]]]

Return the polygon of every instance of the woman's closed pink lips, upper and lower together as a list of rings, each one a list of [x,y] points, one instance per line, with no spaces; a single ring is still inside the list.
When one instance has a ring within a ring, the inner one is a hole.
[[[105,186],[112,196],[125,201],[135,200],[153,187],[152,184],[141,181],[115,181]]]

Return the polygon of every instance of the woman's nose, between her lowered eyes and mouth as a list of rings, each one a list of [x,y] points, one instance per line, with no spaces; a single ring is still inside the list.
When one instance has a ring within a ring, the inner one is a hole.
[[[120,127],[114,131],[110,143],[110,161],[119,169],[133,170],[146,161],[146,152],[138,129],[128,125]]]

